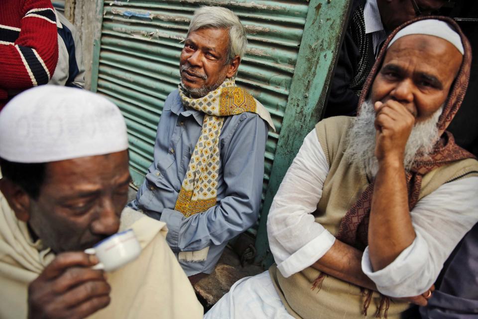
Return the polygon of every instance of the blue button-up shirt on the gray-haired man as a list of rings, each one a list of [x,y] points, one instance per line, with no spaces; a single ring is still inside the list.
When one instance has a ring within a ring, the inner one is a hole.
[[[175,252],[210,247],[206,261],[180,261],[188,276],[211,273],[229,240],[257,220],[259,213],[267,124],[255,113],[224,120],[219,139],[221,160],[217,204],[189,218],[174,210],[201,134],[204,113],[185,109],[178,91],[172,92],[161,114],[154,145],[154,162],[128,206],[166,222],[166,240]]]

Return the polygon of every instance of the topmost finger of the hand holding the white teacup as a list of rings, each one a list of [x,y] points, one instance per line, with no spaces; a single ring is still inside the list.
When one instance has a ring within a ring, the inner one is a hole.
[[[53,279],[60,276],[65,269],[73,266],[92,267],[98,264],[95,255],[88,255],[84,252],[68,252],[59,254],[48,266],[45,267],[40,276],[44,279]]]

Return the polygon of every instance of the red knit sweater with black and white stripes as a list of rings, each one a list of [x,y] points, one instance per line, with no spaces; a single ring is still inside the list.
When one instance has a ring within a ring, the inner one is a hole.
[[[50,0],[0,0],[0,110],[11,93],[48,83],[57,61]]]

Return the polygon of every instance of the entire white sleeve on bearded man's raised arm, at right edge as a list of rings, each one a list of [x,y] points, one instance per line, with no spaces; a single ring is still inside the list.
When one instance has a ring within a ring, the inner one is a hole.
[[[415,240],[387,267],[374,272],[365,248],[362,271],[380,293],[418,296],[433,285],[455,246],[478,220],[477,188],[478,177],[469,177],[423,197],[410,212]]]

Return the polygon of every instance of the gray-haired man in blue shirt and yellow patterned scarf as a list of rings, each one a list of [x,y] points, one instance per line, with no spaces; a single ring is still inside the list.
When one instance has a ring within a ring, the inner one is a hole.
[[[257,220],[266,109],[235,84],[247,45],[229,9],[207,6],[191,20],[181,83],[164,103],[154,161],[128,205],[166,222],[166,237],[194,284],[210,274],[229,240]]]

